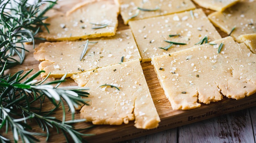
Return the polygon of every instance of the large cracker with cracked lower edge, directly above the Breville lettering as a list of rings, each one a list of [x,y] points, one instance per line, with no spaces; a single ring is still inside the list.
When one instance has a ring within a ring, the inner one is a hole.
[[[196,108],[220,101],[222,95],[241,99],[256,92],[256,55],[231,37],[211,43],[217,45],[203,44],[152,58],[173,109]]]

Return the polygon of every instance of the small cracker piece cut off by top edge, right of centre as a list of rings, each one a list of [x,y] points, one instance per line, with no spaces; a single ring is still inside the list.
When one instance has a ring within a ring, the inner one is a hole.
[[[203,8],[212,9],[215,11],[224,11],[239,2],[239,0],[193,0]]]

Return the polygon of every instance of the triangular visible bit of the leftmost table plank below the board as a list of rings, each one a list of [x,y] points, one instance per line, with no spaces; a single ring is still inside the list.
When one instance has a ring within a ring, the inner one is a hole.
[[[122,141],[120,143],[157,143],[157,142],[177,142],[177,128],[165,130],[155,134],[145,135],[131,140]]]

